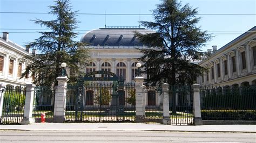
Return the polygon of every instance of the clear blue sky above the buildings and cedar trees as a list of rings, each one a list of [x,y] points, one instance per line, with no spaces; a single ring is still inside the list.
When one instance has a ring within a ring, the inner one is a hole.
[[[73,10],[79,13],[121,13],[121,14],[151,14],[156,9],[159,0],[70,0]],[[255,0],[183,0],[181,3],[189,3],[192,8],[198,8],[199,14],[208,13],[240,13],[256,14]],[[0,12],[49,12],[52,0],[0,0]],[[213,33],[213,39],[207,42],[203,50],[217,45],[218,49],[238,37],[256,25],[256,15],[198,15],[201,17],[198,26],[202,30]],[[9,39],[24,46],[40,35],[33,33],[44,29],[31,20],[51,20],[53,17],[47,14],[17,14],[0,13],[0,32],[8,31]],[[105,15],[78,15],[77,19],[79,35],[75,40],[80,40],[89,30],[104,27]],[[140,16],[140,20],[153,21],[152,16]],[[107,26],[138,26],[139,16],[112,16],[106,15]],[[11,30],[26,29],[26,30]],[[16,33],[12,33],[16,32]],[[17,33],[32,32],[32,33]]]

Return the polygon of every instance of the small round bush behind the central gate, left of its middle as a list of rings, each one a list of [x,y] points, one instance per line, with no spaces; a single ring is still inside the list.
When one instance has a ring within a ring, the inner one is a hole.
[[[95,102],[96,104],[102,104],[102,105],[109,105],[109,102],[111,101],[111,95],[110,91],[106,88],[102,88],[102,94],[100,95],[100,92],[97,92],[95,95]]]

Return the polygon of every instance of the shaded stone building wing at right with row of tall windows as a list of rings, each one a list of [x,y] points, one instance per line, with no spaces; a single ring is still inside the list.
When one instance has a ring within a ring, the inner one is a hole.
[[[203,86],[240,87],[256,85],[256,26],[199,62],[208,72],[197,78]]]

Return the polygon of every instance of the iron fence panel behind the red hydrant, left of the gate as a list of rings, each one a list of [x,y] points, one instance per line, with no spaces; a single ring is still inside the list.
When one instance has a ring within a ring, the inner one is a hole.
[[[45,114],[45,118],[53,117],[55,100],[55,88],[53,87],[35,87],[33,102],[33,118],[41,118],[41,114]]]

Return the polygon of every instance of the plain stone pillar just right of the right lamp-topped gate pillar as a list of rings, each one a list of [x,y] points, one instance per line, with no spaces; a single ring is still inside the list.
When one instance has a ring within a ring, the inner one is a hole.
[[[163,124],[171,124],[169,110],[169,84],[162,84],[163,90]]]

